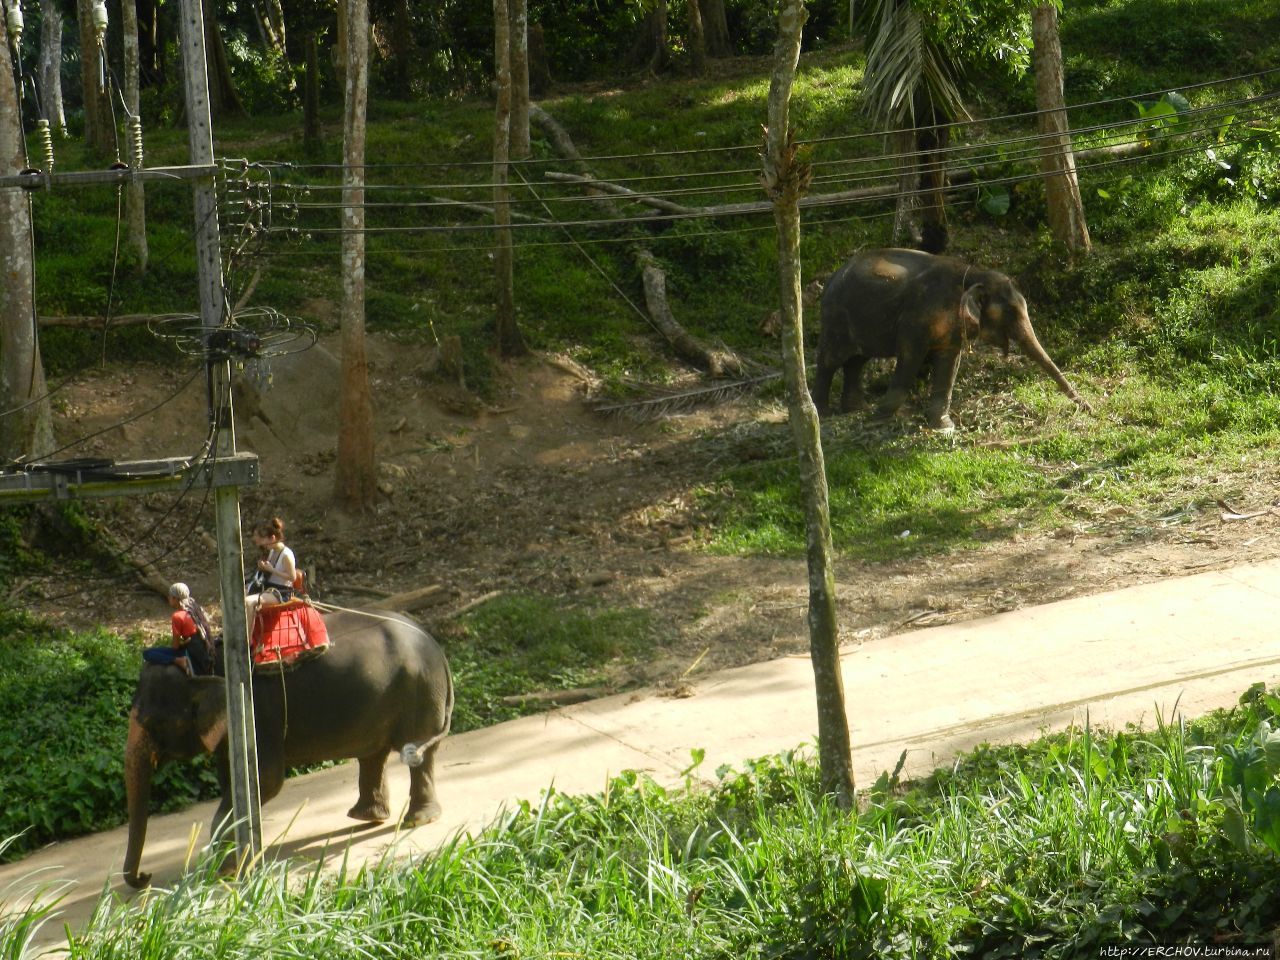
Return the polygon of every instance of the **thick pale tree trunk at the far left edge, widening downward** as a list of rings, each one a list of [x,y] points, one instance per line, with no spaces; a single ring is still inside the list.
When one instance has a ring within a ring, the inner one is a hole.
[[[0,31],[3,35],[3,31]],[[8,38],[0,36],[0,174],[27,165]],[[36,335],[31,206],[19,187],[0,187],[0,462],[54,449],[52,412]]]

